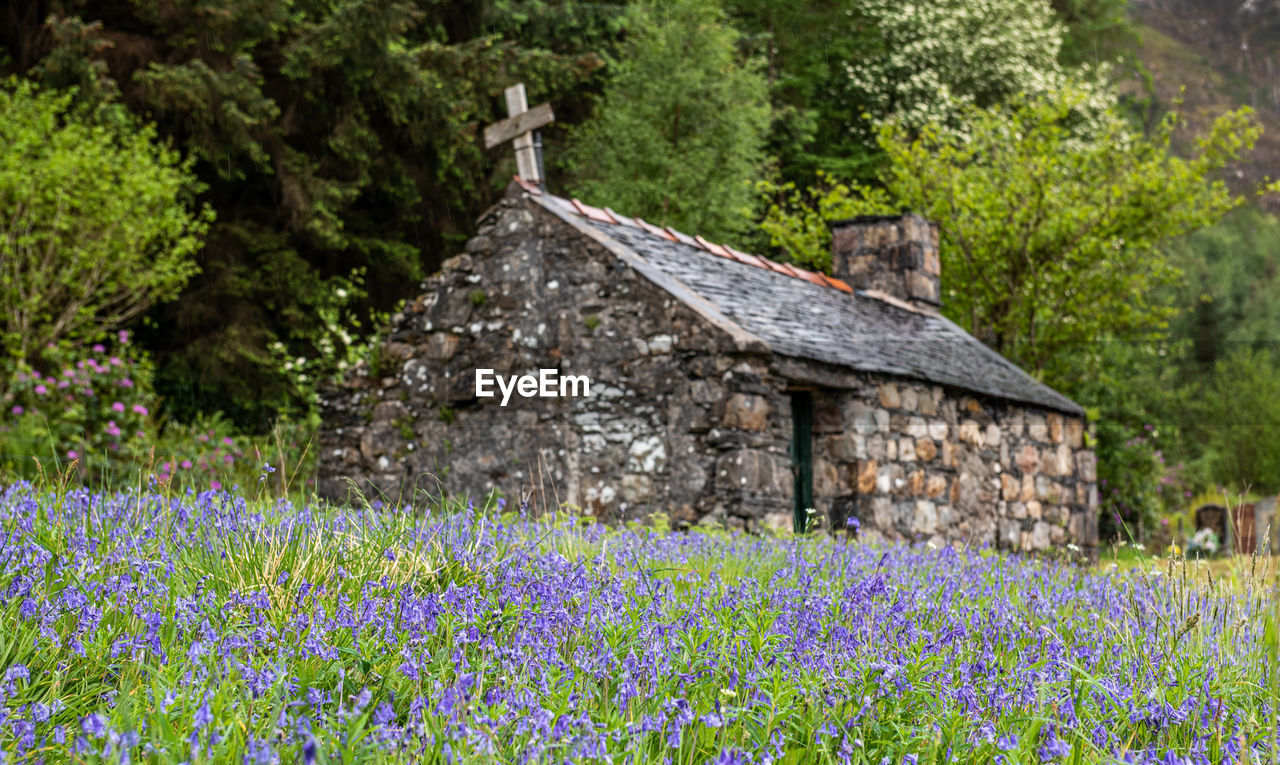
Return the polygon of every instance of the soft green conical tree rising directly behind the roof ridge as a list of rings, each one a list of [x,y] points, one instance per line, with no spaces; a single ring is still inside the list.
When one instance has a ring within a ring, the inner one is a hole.
[[[573,192],[708,237],[750,223],[768,90],[712,0],[640,9],[595,115],[573,133]]]

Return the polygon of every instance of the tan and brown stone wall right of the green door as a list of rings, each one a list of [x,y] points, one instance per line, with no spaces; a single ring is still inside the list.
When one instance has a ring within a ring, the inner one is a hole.
[[[1082,418],[864,377],[814,399],[814,503],[863,537],[1044,550],[1097,542]]]

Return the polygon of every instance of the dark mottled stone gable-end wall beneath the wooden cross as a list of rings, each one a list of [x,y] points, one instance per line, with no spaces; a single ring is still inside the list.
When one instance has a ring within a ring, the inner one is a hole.
[[[508,194],[422,292],[379,374],[324,397],[323,494],[347,477],[396,500],[532,490],[602,517],[741,528],[790,501],[790,423],[744,406],[764,391],[763,356],[545,210]],[[591,395],[475,397],[476,368],[544,367],[590,376]]]

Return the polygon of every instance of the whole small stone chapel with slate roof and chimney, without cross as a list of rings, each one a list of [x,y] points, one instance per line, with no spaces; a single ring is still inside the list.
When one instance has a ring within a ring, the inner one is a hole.
[[[324,397],[323,494],[1094,548],[1083,409],[938,313],[919,216],[833,225],[829,278],[520,179],[480,224]]]

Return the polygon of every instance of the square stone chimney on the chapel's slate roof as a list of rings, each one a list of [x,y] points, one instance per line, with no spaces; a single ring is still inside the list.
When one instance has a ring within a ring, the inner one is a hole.
[[[833,223],[831,274],[854,289],[937,313],[942,306],[938,226],[914,212]]]

